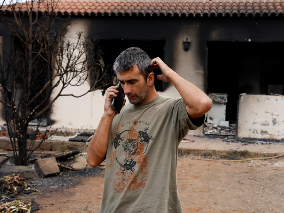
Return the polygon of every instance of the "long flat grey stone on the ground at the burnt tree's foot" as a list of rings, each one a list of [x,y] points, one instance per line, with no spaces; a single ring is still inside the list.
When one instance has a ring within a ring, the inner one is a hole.
[[[25,179],[29,180],[38,179],[38,173],[29,166],[8,166],[5,168],[1,168],[0,173],[2,173],[3,176],[20,173],[20,176]]]

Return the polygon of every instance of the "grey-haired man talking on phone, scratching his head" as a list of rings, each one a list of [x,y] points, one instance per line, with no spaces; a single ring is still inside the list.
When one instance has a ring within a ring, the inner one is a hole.
[[[171,82],[182,98],[159,96],[157,79]],[[151,60],[140,48],[128,48],[113,66],[130,103],[120,114],[111,107],[118,87],[106,91],[104,114],[87,141],[87,162],[99,166],[106,159],[100,212],[183,212],[177,190],[178,145],[204,123],[211,99],[169,68]]]

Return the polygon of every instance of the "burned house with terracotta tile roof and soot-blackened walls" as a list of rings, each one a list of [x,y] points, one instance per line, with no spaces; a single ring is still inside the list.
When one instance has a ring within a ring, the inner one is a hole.
[[[240,137],[284,138],[278,52],[284,47],[284,0],[62,0],[55,11],[71,18],[70,34],[83,31],[99,39],[106,64],[128,47],[141,47],[207,94],[225,94],[222,106],[214,102],[208,123],[235,124]],[[171,84],[156,81],[155,86],[163,96],[179,96]],[[96,129],[103,109],[101,91],[80,99],[62,97],[53,109],[53,125]],[[219,114],[222,118],[212,122]],[[203,128],[192,134],[203,134]]]

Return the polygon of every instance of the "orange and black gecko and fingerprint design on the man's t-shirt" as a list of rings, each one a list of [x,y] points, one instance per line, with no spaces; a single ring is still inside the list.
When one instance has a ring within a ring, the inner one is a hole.
[[[116,155],[116,162],[114,162],[112,167],[117,168],[115,169],[113,181],[113,189],[117,193],[133,191],[139,188],[143,189],[145,187],[149,171],[146,170],[148,161],[144,153],[148,149],[149,142],[154,141],[154,136],[149,136],[150,128],[145,127],[145,124],[124,124],[127,123],[119,123],[116,126],[112,141],[114,149],[121,153]],[[143,130],[141,130],[142,125]]]

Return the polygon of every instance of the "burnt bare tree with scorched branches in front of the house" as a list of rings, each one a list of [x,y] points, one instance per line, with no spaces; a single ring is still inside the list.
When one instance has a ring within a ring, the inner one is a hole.
[[[16,2],[1,9],[1,21],[12,32],[12,47],[0,59],[0,102],[17,165],[26,165],[30,154],[45,140],[35,143],[33,137],[27,143],[32,120],[37,120],[34,134],[38,134],[41,120],[51,114],[60,96],[80,97],[112,83],[104,71],[97,40],[82,32],[70,36],[70,20],[57,16],[57,3]],[[85,82],[91,86],[83,94],[66,93],[67,87]]]

